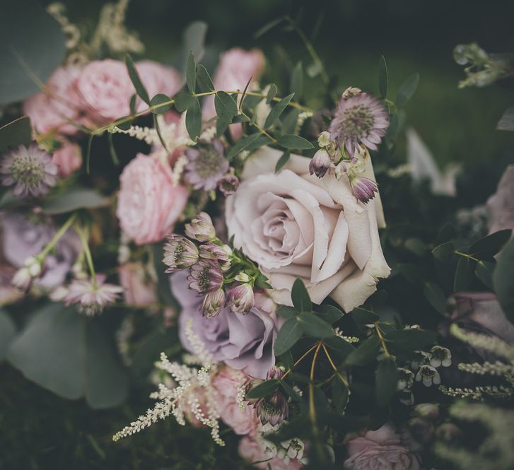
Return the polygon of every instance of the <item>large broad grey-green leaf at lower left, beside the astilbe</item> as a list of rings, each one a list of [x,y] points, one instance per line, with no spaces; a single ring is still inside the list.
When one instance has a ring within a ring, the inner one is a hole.
[[[37,311],[11,343],[8,358],[40,386],[67,399],[85,396],[94,409],[127,397],[127,376],[100,319],[86,319],[73,308],[50,304]]]

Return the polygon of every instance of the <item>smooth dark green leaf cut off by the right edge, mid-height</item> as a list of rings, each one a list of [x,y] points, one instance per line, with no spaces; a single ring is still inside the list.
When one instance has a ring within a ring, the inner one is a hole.
[[[514,238],[503,248],[493,274],[493,286],[501,310],[514,323]]]

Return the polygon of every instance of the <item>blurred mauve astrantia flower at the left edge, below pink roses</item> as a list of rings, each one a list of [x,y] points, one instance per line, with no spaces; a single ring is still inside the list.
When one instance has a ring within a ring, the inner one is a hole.
[[[52,157],[37,147],[23,145],[6,153],[0,164],[2,184],[13,186],[16,196],[43,196],[57,181],[57,165]]]

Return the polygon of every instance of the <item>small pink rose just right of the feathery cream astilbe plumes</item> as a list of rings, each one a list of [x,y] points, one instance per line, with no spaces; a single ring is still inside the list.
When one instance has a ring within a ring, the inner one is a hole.
[[[238,393],[240,387],[249,377],[229,367],[224,367],[214,377],[212,384],[218,391],[216,406],[218,413],[226,425],[239,435],[250,434],[255,431],[258,418],[251,406],[240,409],[238,404]]]

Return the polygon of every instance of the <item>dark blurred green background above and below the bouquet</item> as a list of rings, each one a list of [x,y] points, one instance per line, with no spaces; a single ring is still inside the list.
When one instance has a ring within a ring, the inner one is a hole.
[[[72,23],[90,29],[105,4],[62,3]],[[300,11],[299,23],[309,37],[321,16],[314,44],[329,75],[339,76],[341,85],[377,93],[382,54],[393,96],[405,78],[419,72],[419,88],[407,105],[407,124],[416,129],[440,168],[461,162],[468,175],[484,165],[492,168],[485,187],[475,196],[468,192],[469,206],[483,203],[506,164],[514,161],[514,133],[495,130],[514,93],[496,85],[458,89],[464,72],[452,50],[457,44],[477,42],[487,52],[514,52],[512,1],[132,0],[127,26],[139,32],[146,57],[174,64],[184,28],[204,20],[209,25],[204,59],[208,69],[214,69],[224,49],[259,47],[269,60],[271,79],[298,60],[307,62],[308,54],[294,33],[276,28],[255,39],[255,32],[284,13],[296,16]],[[307,86],[320,84],[308,81]],[[405,159],[404,147],[400,141],[397,163]],[[27,382],[5,363],[0,365],[0,382],[1,470],[245,468],[237,460],[234,442],[220,450],[206,431],[179,428],[172,419],[113,443],[112,434],[150,406],[150,387],[134,388],[121,409],[91,411],[83,401],[59,399]]]

